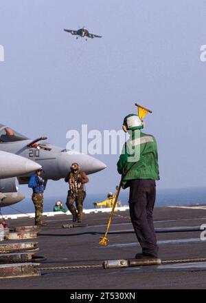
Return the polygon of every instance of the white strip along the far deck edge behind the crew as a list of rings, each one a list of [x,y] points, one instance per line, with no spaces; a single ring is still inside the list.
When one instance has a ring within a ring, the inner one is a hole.
[[[129,209],[128,206],[125,207],[116,207],[115,211],[126,211],[127,209]],[[111,212],[111,208],[100,208],[100,209],[83,209],[83,213],[110,213]],[[3,215],[3,218],[5,220],[7,219],[18,219],[18,218],[27,218],[28,215],[30,216],[30,218],[34,218],[35,217],[35,213],[19,213],[19,214],[14,214],[14,215]],[[71,216],[70,211],[67,211],[67,213],[63,213],[62,211],[47,211],[43,213],[43,216],[46,217],[53,217],[56,215],[66,215],[66,216]]]

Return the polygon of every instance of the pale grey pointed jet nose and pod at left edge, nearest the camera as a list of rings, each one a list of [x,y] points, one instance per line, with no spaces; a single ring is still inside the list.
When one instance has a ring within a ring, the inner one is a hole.
[[[41,168],[41,165],[32,160],[0,151],[0,178],[4,179],[1,180],[0,187],[0,208],[6,205],[12,205],[25,198],[23,194],[16,190],[16,187],[13,188],[14,192],[8,192],[8,190],[11,190],[7,189],[7,184],[12,180],[11,177],[29,174],[39,168]],[[5,184],[3,184],[3,182],[5,182]]]

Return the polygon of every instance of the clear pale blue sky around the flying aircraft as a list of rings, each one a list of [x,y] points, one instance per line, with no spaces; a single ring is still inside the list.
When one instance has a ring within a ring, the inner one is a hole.
[[[63,31],[83,26],[102,39]],[[157,187],[204,187],[205,28],[205,0],[1,0],[1,123],[65,148],[67,131],[82,124],[121,129],[137,102],[152,109],[144,132],[157,139]],[[113,191],[119,155],[95,158],[107,168],[87,191]],[[50,181],[47,196],[66,190]]]

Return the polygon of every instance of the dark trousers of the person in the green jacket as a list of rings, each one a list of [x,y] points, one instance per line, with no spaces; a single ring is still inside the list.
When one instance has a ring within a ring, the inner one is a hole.
[[[152,213],[155,206],[156,184],[151,179],[130,180],[130,218],[142,253],[157,257],[157,239]]]

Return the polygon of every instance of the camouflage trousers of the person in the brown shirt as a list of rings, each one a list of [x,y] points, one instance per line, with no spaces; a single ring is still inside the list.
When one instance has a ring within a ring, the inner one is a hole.
[[[82,211],[83,211],[83,202],[86,197],[86,191],[78,190],[78,194],[73,197],[71,195],[71,191],[68,191],[67,202],[66,205],[73,215],[73,219],[78,219],[78,221],[82,220]],[[73,205],[76,202],[76,207]]]

